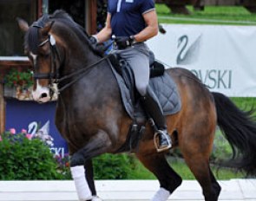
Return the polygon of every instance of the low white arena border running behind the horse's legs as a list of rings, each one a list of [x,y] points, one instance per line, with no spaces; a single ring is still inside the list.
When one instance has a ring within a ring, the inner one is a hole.
[[[222,201],[256,201],[256,179],[219,181]],[[159,185],[156,180],[96,180],[98,195],[104,201],[150,200]],[[1,201],[77,201],[73,181],[0,181]],[[204,200],[200,185],[185,180],[168,199],[172,201]]]

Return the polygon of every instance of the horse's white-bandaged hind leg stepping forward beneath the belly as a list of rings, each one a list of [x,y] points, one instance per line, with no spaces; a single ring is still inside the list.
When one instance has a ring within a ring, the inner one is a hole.
[[[161,189],[156,192],[152,201],[166,201],[170,194],[181,185],[181,177],[168,165],[163,154],[137,154],[137,157],[160,182]]]

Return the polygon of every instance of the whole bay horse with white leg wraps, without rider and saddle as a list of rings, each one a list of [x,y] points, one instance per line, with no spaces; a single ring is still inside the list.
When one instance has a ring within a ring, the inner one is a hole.
[[[64,11],[57,10],[28,25],[24,49],[34,71],[33,98],[47,102],[58,81],[56,127],[69,146],[70,169],[80,200],[96,198],[91,159],[115,153],[126,141],[132,122],[121,102],[121,92],[108,59],[98,55],[89,35]],[[216,201],[220,185],[209,166],[216,126],[233,147],[233,167],[255,173],[256,123],[250,112],[236,107],[224,94],[211,93],[190,71],[166,70],[181,96],[181,111],[168,115],[167,131],[200,183],[207,201]],[[175,132],[174,132],[175,131]],[[135,156],[159,180],[153,201],[165,201],[181,185],[181,176],[156,152],[154,129],[147,123]],[[238,160],[239,159],[239,160]],[[85,172],[86,171],[86,172]]]

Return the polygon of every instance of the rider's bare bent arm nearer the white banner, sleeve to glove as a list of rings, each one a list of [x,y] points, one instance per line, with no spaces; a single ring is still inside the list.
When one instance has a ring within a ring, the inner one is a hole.
[[[135,35],[136,42],[144,42],[158,34],[158,21],[155,10],[151,10],[143,14],[146,28]]]

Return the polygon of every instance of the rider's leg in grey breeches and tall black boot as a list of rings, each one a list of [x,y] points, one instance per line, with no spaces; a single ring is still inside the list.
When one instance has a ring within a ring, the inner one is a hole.
[[[159,138],[159,147],[157,151],[164,151],[171,146],[171,139],[167,134],[167,125],[163,116],[161,106],[154,95],[154,92],[148,89],[149,82],[149,49],[147,45],[137,44],[134,48],[126,49],[121,52],[124,58],[133,69],[135,74],[135,86],[137,91],[143,97],[143,106],[155,125],[159,129],[157,136]]]

